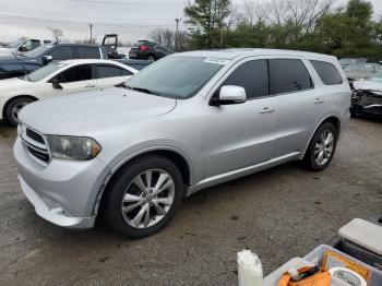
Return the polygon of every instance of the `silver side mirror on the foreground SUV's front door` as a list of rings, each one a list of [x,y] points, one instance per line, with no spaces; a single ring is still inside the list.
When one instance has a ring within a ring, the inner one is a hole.
[[[237,85],[225,85],[220,87],[219,95],[211,99],[210,105],[237,105],[247,100],[246,90]]]

